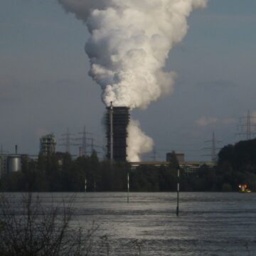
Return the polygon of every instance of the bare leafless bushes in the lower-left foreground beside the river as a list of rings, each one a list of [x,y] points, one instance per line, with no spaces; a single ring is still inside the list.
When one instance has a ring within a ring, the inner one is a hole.
[[[72,216],[73,208],[65,201],[62,207],[53,203],[46,207],[32,193],[24,195],[22,201],[1,194],[0,255],[89,255],[97,228],[87,233],[71,228]]]

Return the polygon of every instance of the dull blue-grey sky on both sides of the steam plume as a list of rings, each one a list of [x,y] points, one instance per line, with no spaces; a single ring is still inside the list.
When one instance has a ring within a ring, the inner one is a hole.
[[[256,95],[256,1],[211,0],[193,12],[183,42],[166,70],[178,73],[172,95],[132,112],[154,139],[159,160],[183,151],[187,160],[207,160],[212,133],[220,146],[235,137],[239,117],[254,112]],[[7,151],[38,154],[39,138],[86,125],[105,144],[101,90],[87,75],[88,34],[53,0],[1,0],[0,144]],[[63,149],[61,146],[59,150]],[[77,147],[73,153],[77,153]],[[149,159],[145,156],[145,159]]]

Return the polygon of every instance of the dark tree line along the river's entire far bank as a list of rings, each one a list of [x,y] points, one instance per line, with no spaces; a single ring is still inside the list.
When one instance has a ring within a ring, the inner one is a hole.
[[[168,165],[135,169],[127,162],[100,161],[95,151],[77,159],[68,153],[24,158],[21,166],[1,178],[1,191],[85,191],[85,180],[87,191],[126,191],[127,174],[131,191],[176,191],[180,168],[175,152]],[[256,139],[224,146],[213,167],[181,169],[181,191],[238,191],[239,183],[256,191]]]

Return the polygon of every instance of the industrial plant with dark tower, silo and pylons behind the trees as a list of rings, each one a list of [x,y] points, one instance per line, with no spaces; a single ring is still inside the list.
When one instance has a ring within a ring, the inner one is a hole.
[[[114,107],[111,103],[110,107],[107,107],[107,111],[105,114],[105,128],[106,128],[106,146],[105,148],[107,151],[105,152],[104,159],[109,159],[110,161],[117,161],[117,162],[124,162],[127,161],[127,127],[129,125],[129,107]],[[81,134],[81,133],[79,133]],[[91,153],[95,150],[95,146],[93,144],[93,138],[87,138],[86,134],[91,134],[90,132],[82,133],[82,138],[78,138],[82,141],[82,145],[80,144],[73,144],[80,146],[79,149],[82,148],[82,154],[79,156],[87,156],[87,139],[92,141],[91,144]],[[70,133],[68,132],[68,137],[65,138],[66,143],[68,144],[69,149],[70,142]],[[215,137],[213,134],[213,145],[215,145]],[[39,146],[39,153],[42,156],[50,156],[56,153],[56,139],[54,134],[46,134],[40,138],[40,146]],[[215,149],[215,146],[214,146]],[[80,150],[81,151],[81,150]],[[69,151],[66,152],[70,153]],[[89,153],[89,152],[88,152]],[[215,151],[214,151],[215,153]],[[59,153],[60,159],[63,153]],[[166,153],[166,161],[137,161],[131,162],[132,168],[136,168],[140,165],[149,165],[149,166],[161,166],[161,165],[169,165],[171,161],[171,152]],[[214,154],[215,156],[215,154]],[[15,153],[14,154],[4,154],[1,150],[0,153],[0,177],[4,174],[8,174],[15,171],[21,171],[21,163],[24,157],[31,157],[27,154],[18,154],[18,146],[15,146]],[[33,156],[37,157],[37,156]],[[76,156],[75,156],[76,157]],[[208,166],[214,166],[215,161],[186,161],[185,154],[183,153],[176,153],[176,159],[180,166],[187,172],[194,172],[198,168],[200,168],[203,164]],[[215,159],[215,158],[214,158]]]

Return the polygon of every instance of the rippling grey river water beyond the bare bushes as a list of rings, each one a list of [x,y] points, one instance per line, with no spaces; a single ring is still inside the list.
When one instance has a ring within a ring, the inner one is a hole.
[[[67,193],[41,193],[43,203]],[[111,255],[256,255],[256,193],[77,193],[73,224],[87,230],[95,222],[107,235]],[[99,242],[100,241],[100,242]],[[106,241],[95,255],[106,255]]]

